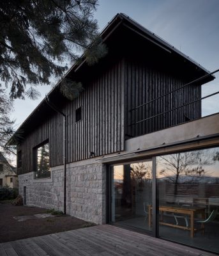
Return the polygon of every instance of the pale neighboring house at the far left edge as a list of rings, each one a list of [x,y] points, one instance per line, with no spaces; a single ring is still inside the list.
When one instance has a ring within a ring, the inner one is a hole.
[[[18,188],[18,177],[16,168],[11,166],[3,154],[0,152],[0,186]]]

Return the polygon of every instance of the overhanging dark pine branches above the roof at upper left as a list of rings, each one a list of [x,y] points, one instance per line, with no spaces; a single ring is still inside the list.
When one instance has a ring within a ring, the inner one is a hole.
[[[97,0],[0,1],[0,78],[10,86],[11,99],[35,99],[35,86],[49,84],[84,52],[92,65],[106,54],[93,18]],[[68,88],[81,84],[63,83]],[[71,96],[71,95],[70,95]],[[73,97],[73,96],[71,96]]]

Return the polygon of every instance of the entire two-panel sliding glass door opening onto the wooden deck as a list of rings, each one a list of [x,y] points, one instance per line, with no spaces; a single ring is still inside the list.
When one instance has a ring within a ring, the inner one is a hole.
[[[109,202],[112,223],[219,253],[219,147],[112,164]]]

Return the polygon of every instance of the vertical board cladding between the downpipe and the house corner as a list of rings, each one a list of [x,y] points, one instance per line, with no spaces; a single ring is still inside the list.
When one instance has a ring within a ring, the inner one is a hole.
[[[80,96],[63,109],[68,123],[68,162],[119,152],[124,148],[122,61],[86,84]],[[82,120],[75,123],[75,109],[82,108]]]

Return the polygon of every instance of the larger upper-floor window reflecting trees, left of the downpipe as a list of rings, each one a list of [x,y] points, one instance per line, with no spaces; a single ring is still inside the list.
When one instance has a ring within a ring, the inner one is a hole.
[[[50,178],[49,143],[34,148],[36,179]]]

